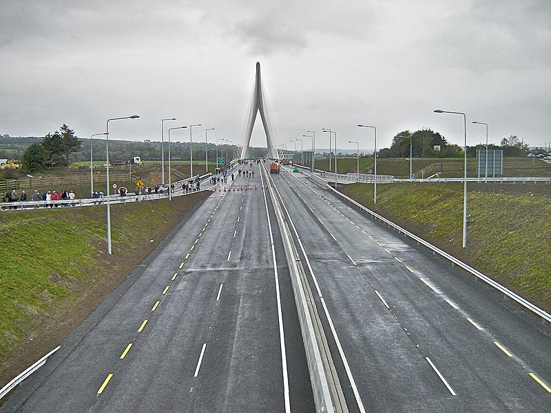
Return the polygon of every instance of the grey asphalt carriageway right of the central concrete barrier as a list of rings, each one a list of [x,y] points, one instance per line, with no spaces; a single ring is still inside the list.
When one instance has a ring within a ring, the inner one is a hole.
[[[301,173],[271,178],[351,412],[551,411],[548,324]]]

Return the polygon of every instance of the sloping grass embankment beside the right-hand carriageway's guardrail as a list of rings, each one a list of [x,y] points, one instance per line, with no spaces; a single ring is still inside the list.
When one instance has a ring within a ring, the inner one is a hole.
[[[344,193],[492,279],[551,310],[551,185],[469,184],[461,248],[462,184],[350,184]]]

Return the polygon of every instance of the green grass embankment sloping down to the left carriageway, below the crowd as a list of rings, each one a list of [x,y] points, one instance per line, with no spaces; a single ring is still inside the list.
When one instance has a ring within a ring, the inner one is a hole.
[[[78,326],[208,192],[105,207],[0,214],[0,386]],[[151,242],[151,241],[154,242]]]

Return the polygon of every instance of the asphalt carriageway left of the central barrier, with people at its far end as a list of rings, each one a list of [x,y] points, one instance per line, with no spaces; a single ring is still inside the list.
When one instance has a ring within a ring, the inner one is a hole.
[[[287,261],[254,169],[175,229],[1,412],[314,412]]]

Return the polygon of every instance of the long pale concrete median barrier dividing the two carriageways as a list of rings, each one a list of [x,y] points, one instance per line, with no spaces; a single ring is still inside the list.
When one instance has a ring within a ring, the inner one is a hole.
[[[322,326],[321,321],[314,319],[317,313],[314,313],[311,308],[313,302],[306,298],[304,286],[307,284],[304,284],[306,282],[304,271],[301,274],[302,264],[300,263],[300,257],[295,251],[290,235],[291,232],[282,213],[278,198],[276,198],[271,184],[268,184],[267,187],[275,215],[278,219],[278,226],[291,275],[293,295],[295,296],[295,303],[297,305],[300,330],[302,332],[302,340],[304,341],[304,350],[306,352],[306,361],[310,372],[316,410],[328,413],[347,412],[346,405],[344,405],[345,410],[342,410],[340,407],[342,403],[338,401],[338,393],[335,389],[335,381],[338,381],[338,377],[336,377],[336,374],[333,376],[331,366],[329,366],[327,360],[324,361],[324,357],[327,357],[327,354],[331,357],[331,353],[329,352],[329,348],[323,348],[326,346],[326,341],[322,340],[321,337],[324,334],[323,331],[320,331],[320,326]],[[331,379],[329,379],[328,375],[331,375]],[[337,403],[333,400],[337,400]],[[337,409],[335,409],[335,405]]]

